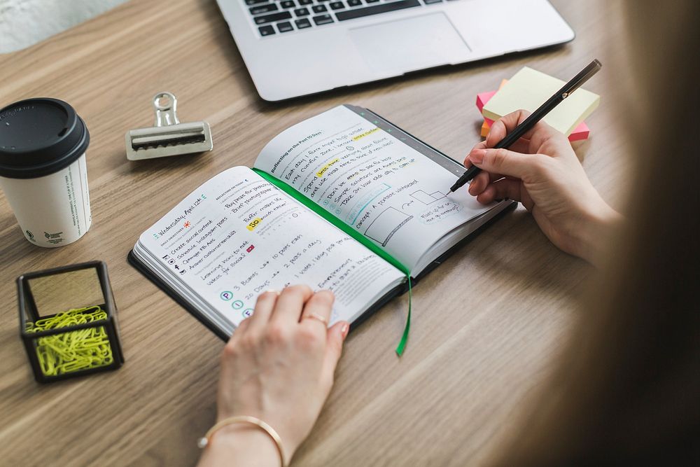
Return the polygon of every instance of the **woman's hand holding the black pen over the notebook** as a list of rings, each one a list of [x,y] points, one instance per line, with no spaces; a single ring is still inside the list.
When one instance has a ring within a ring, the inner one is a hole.
[[[506,149],[491,149],[528,117],[509,113],[496,123],[486,141],[474,146],[464,160],[482,169],[469,193],[484,204],[510,198],[519,201],[553,244],[596,263],[599,249],[619,214],[591,185],[568,139],[540,122]]]

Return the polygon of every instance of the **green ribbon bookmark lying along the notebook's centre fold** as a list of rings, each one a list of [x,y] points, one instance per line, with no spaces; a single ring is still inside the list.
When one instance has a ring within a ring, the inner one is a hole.
[[[260,175],[263,179],[267,180],[269,183],[272,183],[272,185],[276,186],[280,190],[282,190],[284,193],[287,193],[291,197],[293,197],[295,200],[300,202],[301,204],[304,204],[305,207],[311,209],[311,211],[314,211],[316,214],[319,216],[323,217],[326,221],[332,223],[332,225],[335,225],[337,228],[345,232],[347,235],[350,237],[353,237],[353,239],[356,239],[357,242],[360,242],[364,246],[367,247],[367,249],[370,249],[372,253],[375,253],[377,256],[381,257],[382,259],[386,260],[387,263],[391,264],[393,267],[396,269],[400,270],[404,274],[406,274],[406,277],[408,278],[408,316],[406,318],[406,326],[403,329],[403,335],[401,337],[401,342],[399,342],[398,347],[396,347],[396,354],[398,356],[401,356],[403,354],[403,351],[406,347],[406,342],[408,340],[408,332],[409,329],[411,328],[411,300],[412,300],[412,293],[411,293],[411,271],[402,265],[401,263],[398,262],[393,256],[390,254],[386,253],[386,251],[382,250],[379,248],[379,246],[375,245],[374,243],[370,242],[367,238],[365,238],[364,235],[362,235],[360,232],[357,230],[351,228],[349,225],[341,221],[339,218],[333,216],[330,214],[330,212],[326,211],[323,209],[321,206],[318,206],[315,202],[309,200],[309,198],[305,197],[301,193],[299,193],[295,188],[292,186],[288,185],[287,183],[274,178],[274,176],[267,174],[266,172],[262,172],[260,169],[255,169],[253,167],[253,172],[256,174]]]

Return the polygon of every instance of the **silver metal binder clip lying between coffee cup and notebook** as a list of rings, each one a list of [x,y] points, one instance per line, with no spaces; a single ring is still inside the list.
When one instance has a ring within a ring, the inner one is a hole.
[[[153,106],[155,127],[129,130],[126,134],[128,160],[201,153],[214,147],[209,123],[180,123],[175,113],[177,99],[171,92],[155,95]]]

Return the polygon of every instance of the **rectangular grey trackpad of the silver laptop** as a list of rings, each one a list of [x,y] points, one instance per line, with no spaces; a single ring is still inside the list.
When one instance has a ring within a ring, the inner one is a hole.
[[[470,52],[444,13],[349,30],[350,38],[372,71],[400,74],[454,62]]]

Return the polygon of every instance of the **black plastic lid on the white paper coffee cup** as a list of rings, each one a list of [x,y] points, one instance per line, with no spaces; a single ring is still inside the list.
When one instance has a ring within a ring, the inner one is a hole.
[[[34,179],[58,172],[88,144],[85,123],[66,102],[38,97],[0,110],[0,176]]]

